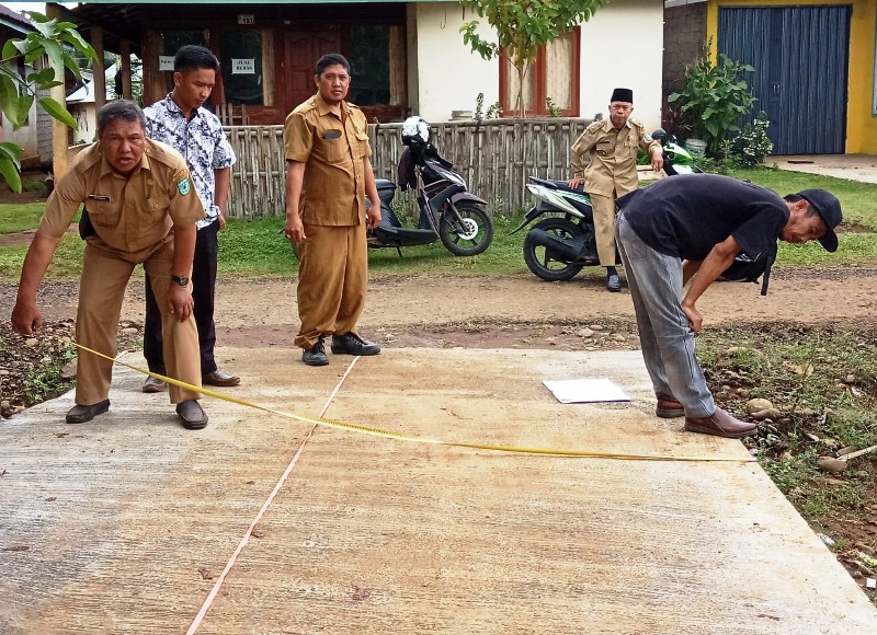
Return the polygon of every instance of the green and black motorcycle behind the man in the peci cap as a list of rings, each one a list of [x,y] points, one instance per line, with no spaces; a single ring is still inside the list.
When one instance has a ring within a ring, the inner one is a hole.
[[[668,176],[702,172],[692,154],[663,129],[654,130],[651,138],[661,141]],[[529,177],[527,189],[536,204],[511,233],[545,217],[524,238],[524,262],[529,270],[554,282],[570,280],[583,267],[600,266],[591,197],[581,187],[572,189],[566,181],[535,176]]]

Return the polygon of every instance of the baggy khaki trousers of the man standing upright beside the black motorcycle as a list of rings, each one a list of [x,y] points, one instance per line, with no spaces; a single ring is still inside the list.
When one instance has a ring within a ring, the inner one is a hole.
[[[322,335],[356,333],[368,285],[365,223],[320,226],[305,223],[306,240],[298,243],[299,348],[310,348]]]

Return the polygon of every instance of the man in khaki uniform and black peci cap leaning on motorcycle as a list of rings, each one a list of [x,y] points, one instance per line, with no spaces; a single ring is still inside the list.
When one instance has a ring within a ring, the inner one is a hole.
[[[637,149],[651,154],[651,166],[663,168],[660,141],[647,141],[646,129],[636,119],[634,91],[615,89],[610,100],[610,118],[594,122],[572,145],[572,178],[570,187],[584,183],[594,210],[594,232],[600,264],[606,267],[606,289],[620,291],[622,282],[615,270],[615,199],[639,186]],[[584,157],[589,158],[585,165]]]

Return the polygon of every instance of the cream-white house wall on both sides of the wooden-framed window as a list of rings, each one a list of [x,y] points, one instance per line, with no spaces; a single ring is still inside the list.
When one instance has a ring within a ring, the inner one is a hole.
[[[452,111],[475,111],[478,93],[485,109],[499,101],[499,60],[485,61],[463,44],[459,27],[477,16],[457,3],[417,3],[415,45],[409,73],[414,114],[446,122]],[[487,23],[480,35],[496,42]],[[411,28],[409,23],[409,28]],[[634,91],[634,116],[648,129],[661,123],[663,0],[618,0],[600,9],[581,27],[580,116],[607,112],[613,89]],[[410,37],[410,36],[409,36]]]

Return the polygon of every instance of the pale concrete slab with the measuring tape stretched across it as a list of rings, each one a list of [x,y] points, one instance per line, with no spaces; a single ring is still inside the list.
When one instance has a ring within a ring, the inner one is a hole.
[[[216,400],[208,428],[190,432],[117,367],[112,411],[94,422],[64,424],[65,395],[0,428],[0,632],[180,633],[200,614],[201,633],[877,623],[741,443],[653,416],[636,351],[389,349],[346,376],[350,358],[314,369],[288,350],[218,353],[244,378],[229,394],[308,416],[718,460],[417,444]],[[634,401],[561,405],[542,386],[574,377],[608,377]]]

